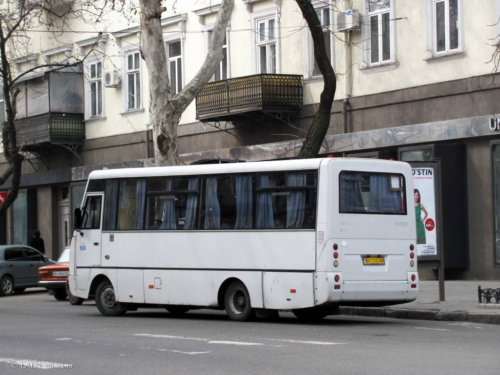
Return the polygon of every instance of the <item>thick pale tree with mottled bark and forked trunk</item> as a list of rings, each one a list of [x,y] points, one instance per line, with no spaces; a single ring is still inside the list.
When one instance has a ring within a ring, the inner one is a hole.
[[[160,24],[161,14],[166,8],[159,0],[140,0],[140,50],[149,76],[149,111],[156,165],[179,163],[177,125],[180,116],[209,81],[223,58],[222,44],[233,5],[234,0],[222,0],[203,64],[194,78],[179,93],[173,94]]]

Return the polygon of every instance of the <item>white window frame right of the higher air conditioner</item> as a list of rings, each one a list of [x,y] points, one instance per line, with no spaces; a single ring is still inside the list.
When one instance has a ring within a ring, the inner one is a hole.
[[[386,71],[397,68],[397,49],[396,49],[396,22],[392,21],[395,18],[394,0],[389,0],[389,7],[369,11],[368,0],[362,0],[362,20],[361,20],[361,72],[363,74],[375,73],[378,71]],[[389,45],[390,58],[382,60],[382,14],[389,14]],[[378,61],[371,62],[371,21],[372,16],[378,16]]]

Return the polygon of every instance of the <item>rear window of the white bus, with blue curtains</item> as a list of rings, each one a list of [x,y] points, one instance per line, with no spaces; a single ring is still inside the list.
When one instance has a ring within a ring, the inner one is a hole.
[[[343,170],[338,190],[340,213],[406,214],[402,174]]]

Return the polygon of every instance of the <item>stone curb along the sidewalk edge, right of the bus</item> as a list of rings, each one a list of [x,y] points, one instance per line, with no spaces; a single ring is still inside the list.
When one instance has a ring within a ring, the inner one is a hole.
[[[473,323],[500,324],[500,312],[469,312],[463,310],[443,311],[394,307],[340,306],[340,313],[343,315],[392,317],[396,319],[470,321]]]

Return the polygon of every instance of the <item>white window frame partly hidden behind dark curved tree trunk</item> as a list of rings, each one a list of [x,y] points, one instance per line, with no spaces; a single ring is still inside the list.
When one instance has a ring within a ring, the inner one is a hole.
[[[333,31],[332,25],[334,23],[333,17],[335,16],[335,11],[333,9],[333,4],[331,0],[313,0],[311,1],[312,6],[314,9],[317,10],[322,10],[322,11],[328,11],[329,19],[330,19],[330,24],[327,25],[324,28],[327,28],[330,32]],[[322,20],[321,20],[322,22]],[[319,74],[314,74],[314,49],[312,46],[312,37],[311,33],[309,31],[309,27],[307,26],[307,23],[304,20],[304,29],[303,29],[303,40],[304,40],[304,79],[322,79],[321,73]],[[335,55],[334,55],[334,36],[333,34],[330,35],[330,45],[329,45],[329,51],[330,51],[330,63],[331,66],[334,68],[333,61],[335,60]]]

